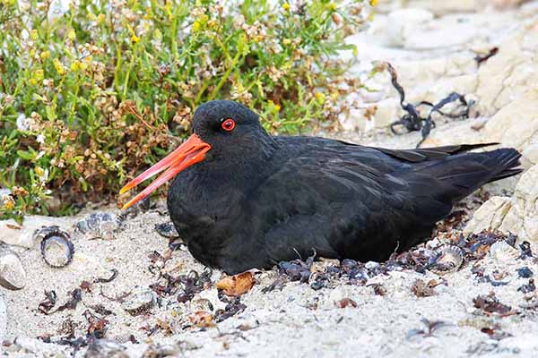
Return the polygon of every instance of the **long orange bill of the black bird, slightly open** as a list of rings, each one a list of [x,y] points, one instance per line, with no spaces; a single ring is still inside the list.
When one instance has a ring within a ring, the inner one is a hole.
[[[177,149],[172,151],[168,156],[162,158],[157,164],[147,169],[143,174],[138,175],[132,181],[126,184],[119,191],[120,194],[128,192],[133,189],[139,183],[151,178],[153,175],[165,172],[149,184],[142,192],[136,194],[136,196],[129,200],[122,209],[127,209],[134,205],[134,203],[143,200],[150,195],[153,191],[159,188],[163,183],[168,182],[171,178],[178,175],[179,172],[185,170],[188,166],[192,166],[205,158],[205,153],[211,149],[211,146],[202,141],[196,134],[191,135],[187,141],[181,144]]]

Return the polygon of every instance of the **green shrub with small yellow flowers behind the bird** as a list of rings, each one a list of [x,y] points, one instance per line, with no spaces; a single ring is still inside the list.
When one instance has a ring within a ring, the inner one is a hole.
[[[0,217],[117,199],[213,98],[295,133],[337,125],[360,86],[334,55],[361,1],[77,3],[0,0]]]

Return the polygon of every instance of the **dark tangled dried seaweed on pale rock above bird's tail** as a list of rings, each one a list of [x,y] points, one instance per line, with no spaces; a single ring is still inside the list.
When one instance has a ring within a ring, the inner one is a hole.
[[[395,127],[402,126],[404,127],[408,132],[414,132],[414,131],[421,131],[422,139],[417,144],[417,148],[419,148],[423,141],[428,138],[428,135],[430,135],[430,131],[432,128],[435,128],[435,122],[431,119],[432,115],[434,113],[438,113],[439,115],[443,115],[447,118],[459,118],[459,119],[467,119],[469,118],[469,112],[471,110],[471,107],[473,107],[473,100],[467,102],[464,95],[461,95],[456,92],[450,93],[446,98],[441,99],[438,103],[433,104],[428,101],[421,101],[417,105],[412,105],[411,103],[405,103],[405,91],[402,85],[398,83],[398,75],[395,71],[395,68],[391,65],[386,63],[386,69],[390,73],[391,81],[393,84],[393,87],[400,95],[400,106],[402,106],[402,109],[406,112],[406,114],[400,118],[399,120],[395,121],[393,124],[390,125],[390,130],[394,132],[395,134],[400,134],[400,132],[395,131]],[[453,111],[452,113],[446,113],[441,111],[442,107],[445,107],[449,103],[453,103],[459,101],[459,106],[461,109],[458,111]],[[421,116],[421,112],[419,110],[419,107],[430,107],[430,113],[427,117]]]

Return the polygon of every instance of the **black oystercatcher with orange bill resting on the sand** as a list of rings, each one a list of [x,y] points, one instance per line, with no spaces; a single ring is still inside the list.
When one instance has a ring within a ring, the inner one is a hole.
[[[169,188],[172,222],[193,256],[235,274],[281,260],[385,260],[427,238],[453,205],[522,169],[516,149],[488,144],[395,150],[316,137],[271,136],[258,115],[218,100],[194,133],[121,193],[165,172],[129,201]]]

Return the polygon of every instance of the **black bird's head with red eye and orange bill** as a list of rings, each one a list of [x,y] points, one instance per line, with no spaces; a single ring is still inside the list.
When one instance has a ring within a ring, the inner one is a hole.
[[[233,101],[213,100],[195,111],[193,134],[167,157],[135,177],[120,190],[128,192],[139,183],[164,171],[157,179],[129,200],[123,209],[143,200],[163,183],[198,162],[234,162],[252,155],[261,140],[268,138],[258,115]]]

